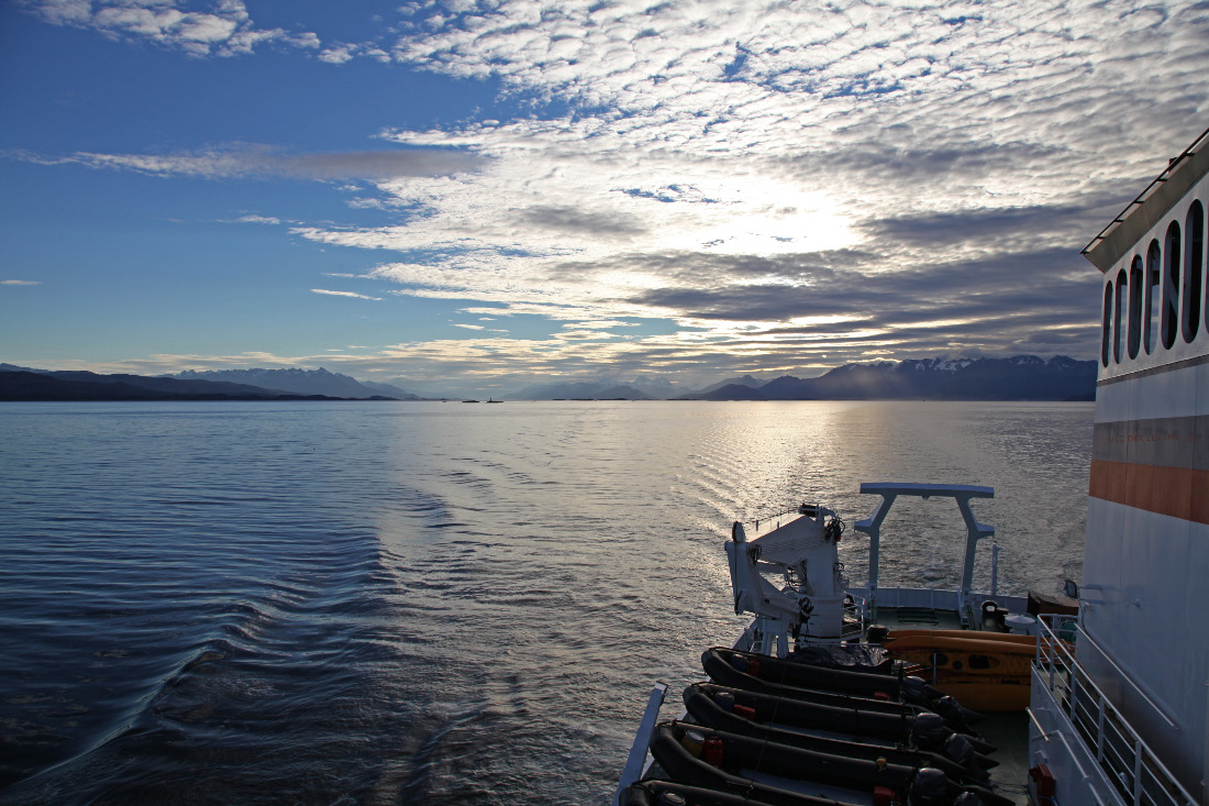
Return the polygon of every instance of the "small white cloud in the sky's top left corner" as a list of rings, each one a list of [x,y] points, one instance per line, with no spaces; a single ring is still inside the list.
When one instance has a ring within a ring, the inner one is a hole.
[[[218,0],[189,10],[190,0],[18,0],[45,22],[88,28],[115,39],[145,40],[190,56],[237,56],[273,42],[313,50],[311,31],[258,28],[242,0]]]

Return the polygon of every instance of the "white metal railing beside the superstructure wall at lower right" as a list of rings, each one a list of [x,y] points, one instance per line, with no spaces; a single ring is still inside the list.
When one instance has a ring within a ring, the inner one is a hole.
[[[1121,798],[1133,806],[1196,806],[1192,795],[1075,658],[1072,643],[1091,643],[1078,623],[1069,616],[1045,616],[1037,633],[1040,680],[1062,704]]]

